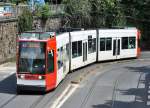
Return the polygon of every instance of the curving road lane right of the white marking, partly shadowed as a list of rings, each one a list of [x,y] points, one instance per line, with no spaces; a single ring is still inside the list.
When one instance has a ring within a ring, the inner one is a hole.
[[[150,53],[99,68],[61,108],[150,108]]]

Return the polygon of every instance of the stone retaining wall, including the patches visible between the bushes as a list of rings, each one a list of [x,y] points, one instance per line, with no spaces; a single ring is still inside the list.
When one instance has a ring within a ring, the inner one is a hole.
[[[35,20],[40,22],[40,20]],[[50,18],[46,22],[46,30],[57,29],[61,26],[59,18]],[[34,27],[34,25],[33,25]],[[6,62],[16,56],[17,19],[0,21],[0,63]]]

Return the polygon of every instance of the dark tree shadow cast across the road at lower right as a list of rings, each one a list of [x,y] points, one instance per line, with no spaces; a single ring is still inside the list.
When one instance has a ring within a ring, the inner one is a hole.
[[[139,85],[142,87],[130,88],[127,90],[117,90],[121,95],[135,96],[132,102],[106,100],[105,104],[93,105],[93,108],[150,108],[150,67],[126,67],[131,72],[140,72],[142,79],[139,78]]]

